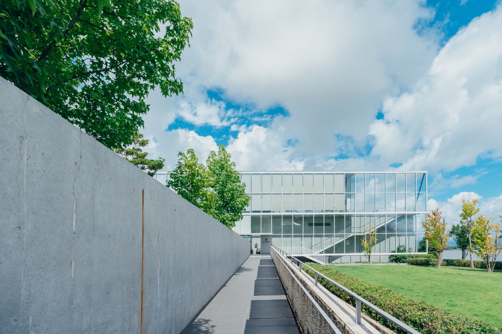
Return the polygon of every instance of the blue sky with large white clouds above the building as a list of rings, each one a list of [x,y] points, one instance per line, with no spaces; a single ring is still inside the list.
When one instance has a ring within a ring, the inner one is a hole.
[[[224,144],[240,170],[425,170],[429,209],[502,212],[498,1],[184,1],[184,95],[144,133],[173,168]]]

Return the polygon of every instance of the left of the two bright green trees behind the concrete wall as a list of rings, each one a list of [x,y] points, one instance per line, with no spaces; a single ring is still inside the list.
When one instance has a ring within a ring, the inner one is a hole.
[[[195,151],[178,152],[176,168],[169,175],[167,187],[199,209],[208,212],[214,206],[215,196],[209,189],[212,180]]]

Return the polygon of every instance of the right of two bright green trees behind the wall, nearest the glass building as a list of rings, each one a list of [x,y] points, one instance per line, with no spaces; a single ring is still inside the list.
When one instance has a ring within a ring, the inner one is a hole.
[[[232,228],[235,222],[242,219],[242,212],[250,201],[249,195],[245,193],[245,185],[240,182],[241,175],[236,171],[235,162],[223,145],[218,147],[217,153],[209,153],[206,165],[210,174],[210,187],[216,196],[215,206],[209,214]]]

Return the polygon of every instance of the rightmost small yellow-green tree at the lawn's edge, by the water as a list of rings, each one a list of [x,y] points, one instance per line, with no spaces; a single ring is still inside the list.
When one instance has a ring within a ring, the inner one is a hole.
[[[493,272],[496,258],[502,252],[502,229],[500,224],[492,222],[493,219],[488,216],[476,217],[472,224],[473,248],[469,248],[469,251],[483,259],[488,272]]]

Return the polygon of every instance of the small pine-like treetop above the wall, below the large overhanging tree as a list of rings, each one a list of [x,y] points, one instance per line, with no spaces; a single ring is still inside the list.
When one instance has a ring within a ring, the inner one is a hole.
[[[122,147],[113,148],[113,150],[151,177],[164,167],[164,161],[166,161],[166,159],[147,158],[149,153],[144,152],[142,147],[147,146],[149,140],[144,139],[143,134],[136,133],[133,135],[131,142],[132,143],[130,145],[122,145]]]

